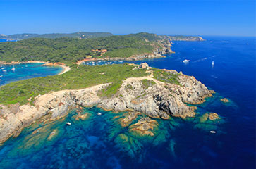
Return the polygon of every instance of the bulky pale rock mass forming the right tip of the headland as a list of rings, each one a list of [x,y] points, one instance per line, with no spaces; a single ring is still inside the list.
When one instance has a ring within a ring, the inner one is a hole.
[[[152,76],[128,78],[115,96],[111,99],[102,99],[99,106],[114,111],[132,109],[152,118],[168,119],[170,115],[181,118],[193,117],[195,109],[185,103],[201,104],[205,101],[205,97],[212,94],[195,77],[174,70],[171,73],[179,75],[181,85],[159,82]],[[140,81],[143,79],[153,80],[155,84],[145,89]]]

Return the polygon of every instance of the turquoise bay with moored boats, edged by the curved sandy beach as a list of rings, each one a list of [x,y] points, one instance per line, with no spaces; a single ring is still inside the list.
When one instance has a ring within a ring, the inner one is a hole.
[[[57,66],[42,66],[43,63],[20,63],[15,65],[0,65],[0,86],[10,82],[45,77],[61,73],[63,68]],[[13,67],[15,70],[12,70]]]

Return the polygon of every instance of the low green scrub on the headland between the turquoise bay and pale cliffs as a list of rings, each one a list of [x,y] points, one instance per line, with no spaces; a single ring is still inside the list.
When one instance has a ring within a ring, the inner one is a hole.
[[[0,104],[27,104],[29,99],[32,104],[35,96],[39,94],[63,89],[84,89],[110,82],[112,84],[102,90],[101,96],[112,96],[121,87],[122,80],[148,75],[143,69],[132,69],[132,65],[80,65],[79,69],[73,65],[71,70],[63,75],[20,80],[0,87]],[[104,75],[101,74],[103,72]]]

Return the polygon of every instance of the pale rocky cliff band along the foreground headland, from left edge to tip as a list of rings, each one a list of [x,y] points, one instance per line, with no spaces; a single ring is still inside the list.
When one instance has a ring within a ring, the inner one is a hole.
[[[183,75],[175,70],[161,70],[161,79],[148,65],[135,66],[146,69],[145,77],[129,77],[111,96],[102,96],[102,91],[111,83],[99,84],[85,89],[49,92],[35,97],[33,104],[0,105],[0,142],[16,137],[23,127],[35,120],[47,117],[56,120],[77,107],[99,106],[112,111],[136,111],[151,118],[169,119],[193,117],[195,107],[186,105],[200,104],[205,97],[212,96],[204,84],[195,77]],[[160,70],[158,70],[160,71]],[[166,75],[177,77],[177,82],[164,82]]]

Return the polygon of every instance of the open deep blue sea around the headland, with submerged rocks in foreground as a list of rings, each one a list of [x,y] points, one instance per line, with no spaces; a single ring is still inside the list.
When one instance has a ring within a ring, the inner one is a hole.
[[[82,120],[73,110],[54,122],[38,121],[0,146],[0,168],[255,168],[255,38],[204,38],[173,42],[176,53],[166,58],[133,62],[182,71],[214,89],[195,118],[155,119],[150,137],[121,127],[127,112],[84,108]],[[222,103],[224,97],[231,102]],[[207,112],[221,120],[202,120]]]

